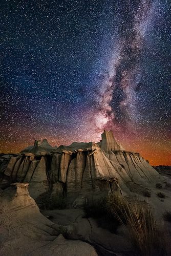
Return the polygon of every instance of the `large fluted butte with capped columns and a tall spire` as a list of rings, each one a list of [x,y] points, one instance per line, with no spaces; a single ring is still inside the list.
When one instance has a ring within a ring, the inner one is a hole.
[[[127,152],[116,142],[112,131],[104,131],[99,143],[52,147],[47,140],[35,141],[8,161],[0,165],[2,188],[28,182],[34,199],[50,191],[65,197],[68,207],[82,206],[113,191],[129,194],[136,189],[141,193],[144,187],[162,182],[139,153]]]

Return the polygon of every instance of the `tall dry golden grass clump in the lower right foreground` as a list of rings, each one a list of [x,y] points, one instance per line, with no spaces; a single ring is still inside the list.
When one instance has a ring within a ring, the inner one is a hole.
[[[105,218],[124,225],[135,249],[135,255],[170,255],[166,252],[165,238],[157,228],[149,206],[139,201],[128,201],[119,195],[109,195],[103,200]],[[96,212],[96,215],[98,211]],[[171,220],[171,212],[170,212]]]

